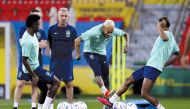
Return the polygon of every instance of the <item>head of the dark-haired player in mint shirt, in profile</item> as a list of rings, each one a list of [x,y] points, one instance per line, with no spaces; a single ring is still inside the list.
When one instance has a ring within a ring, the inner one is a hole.
[[[29,29],[32,29],[34,32],[37,32],[40,25],[40,16],[38,15],[29,15],[26,19],[26,26]]]

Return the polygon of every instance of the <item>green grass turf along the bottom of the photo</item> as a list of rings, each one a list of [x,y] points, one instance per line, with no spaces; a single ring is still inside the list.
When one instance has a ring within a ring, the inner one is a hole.
[[[190,97],[161,97],[159,100],[166,109],[190,109]],[[76,101],[84,101],[88,109],[102,109],[102,105],[96,101],[95,97],[76,99]],[[19,109],[30,109],[29,102],[29,99],[22,99]],[[55,109],[59,102],[61,99],[55,101]],[[13,100],[0,99],[0,109],[11,109],[12,105]]]

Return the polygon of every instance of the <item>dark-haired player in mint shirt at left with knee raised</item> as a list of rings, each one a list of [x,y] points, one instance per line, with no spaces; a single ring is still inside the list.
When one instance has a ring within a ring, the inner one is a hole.
[[[56,76],[54,76],[53,73],[43,69],[39,64],[39,42],[35,34],[39,29],[39,20],[40,17],[38,15],[30,15],[26,19],[27,30],[21,39],[23,61],[22,69],[24,73],[31,77],[33,87],[37,86],[38,82],[51,84],[42,106],[42,109],[49,109],[50,103],[55,97],[60,86],[60,81],[56,78]],[[43,91],[40,87],[39,89]]]

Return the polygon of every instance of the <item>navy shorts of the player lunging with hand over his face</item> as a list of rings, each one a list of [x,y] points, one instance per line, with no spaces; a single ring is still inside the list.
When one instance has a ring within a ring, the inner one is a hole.
[[[154,67],[144,66],[138,69],[137,71],[133,72],[132,76],[135,79],[135,81],[138,81],[142,78],[148,78],[155,82],[160,73],[161,71],[157,70]]]

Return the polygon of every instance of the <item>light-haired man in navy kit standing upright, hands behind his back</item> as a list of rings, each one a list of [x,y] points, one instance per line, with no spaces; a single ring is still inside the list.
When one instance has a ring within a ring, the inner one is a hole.
[[[77,32],[74,27],[67,24],[68,9],[60,8],[58,23],[51,26],[48,31],[48,42],[51,50],[50,71],[60,81],[65,82],[67,102],[73,102],[73,62],[72,51]]]

